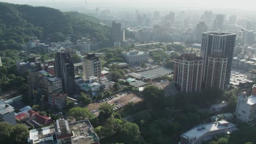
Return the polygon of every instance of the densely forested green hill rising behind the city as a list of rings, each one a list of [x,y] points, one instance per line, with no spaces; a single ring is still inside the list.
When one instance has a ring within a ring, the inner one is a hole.
[[[44,40],[48,34],[53,34],[53,41],[62,41],[66,35],[75,41],[85,34],[106,41],[109,28],[100,22],[96,17],[74,11],[0,3],[0,50],[18,49],[31,36]]]

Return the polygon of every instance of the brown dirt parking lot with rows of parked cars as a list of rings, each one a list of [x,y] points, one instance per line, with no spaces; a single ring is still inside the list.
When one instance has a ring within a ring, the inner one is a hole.
[[[102,103],[109,103],[111,105],[115,105],[115,107],[123,107],[131,101],[133,103],[138,103],[139,101],[143,100],[143,98],[139,97],[136,93],[133,93],[133,92],[131,92],[131,93],[121,92],[121,93],[113,95],[113,97],[114,97],[113,99],[104,101]],[[115,101],[118,101],[118,103],[115,103]],[[102,103],[97,103],[97,102],[91,103],[88,106],[86,106],[86,108],[89,111],[94,111],[94,110],[97,110]],[[94,114],[96,116],[98,115],[98,113],[99,113],[98,111],[94,112]]]

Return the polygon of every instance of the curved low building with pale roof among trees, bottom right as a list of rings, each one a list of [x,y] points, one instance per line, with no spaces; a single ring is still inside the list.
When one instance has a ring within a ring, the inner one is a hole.
[[[181,135],[181,144],[200,144],[217,135],[229,134],[237,130],[236,125],[225,120],[196,125]]]

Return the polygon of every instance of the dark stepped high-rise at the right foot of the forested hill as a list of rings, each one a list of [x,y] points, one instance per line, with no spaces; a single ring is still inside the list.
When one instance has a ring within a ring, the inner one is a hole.
[[[121,29],[121,23],[117,23],[116,21],[113,21],[111,32],[112,32],[112,40],[114,42],[125,41],[125,31],[124,29]]]

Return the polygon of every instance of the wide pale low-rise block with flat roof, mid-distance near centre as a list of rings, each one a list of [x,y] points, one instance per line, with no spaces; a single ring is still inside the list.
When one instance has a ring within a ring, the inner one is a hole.
[[[137,51],[137,50],[131,50],[129,52],[121,52],[121,55],[123,56],[126,63],[133,65],[133,64],[139,64],[139,63],[147,63],[149,53],[143,52],[143,51]]]

